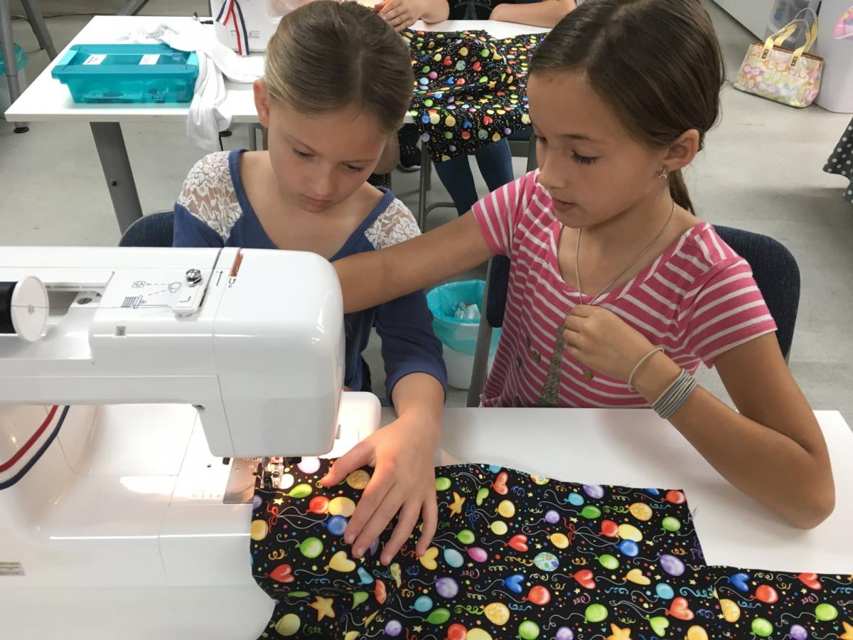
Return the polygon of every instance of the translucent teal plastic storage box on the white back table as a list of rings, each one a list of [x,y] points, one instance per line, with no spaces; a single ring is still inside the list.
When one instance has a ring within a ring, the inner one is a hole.
[[[75,44],[51,75],[74,102],[190,102],[199,58],[166,44]]]

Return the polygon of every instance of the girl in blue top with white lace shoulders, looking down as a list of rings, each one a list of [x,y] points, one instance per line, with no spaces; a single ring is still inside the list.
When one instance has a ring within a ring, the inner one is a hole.
[[[417,236],[403,203],[365,182],[403,122],[412,83],[409,50],[371,10],[316,0],[284,16],[254,86],[269,151],[211,154],[193,167],[175,205],[175,246],[293,249],[334,261]],[[346,315],[346,387],[365,388],[362,352],[374,326],[398,418],[346,456],[375,469],[345,538],[361,556],[399,512],[387,564],[418,515],[419,553],[435,530],[432,456],[446,372],[418,291]]]

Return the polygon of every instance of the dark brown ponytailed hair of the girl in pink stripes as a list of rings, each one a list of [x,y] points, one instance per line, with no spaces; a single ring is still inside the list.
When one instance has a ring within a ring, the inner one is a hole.
[[[587,0],[539,45],[531,73],[581,70],[641,142],[663,148],[717,122],[725,71],[700,0]],[[693,212],[682,172],[670,194]]]

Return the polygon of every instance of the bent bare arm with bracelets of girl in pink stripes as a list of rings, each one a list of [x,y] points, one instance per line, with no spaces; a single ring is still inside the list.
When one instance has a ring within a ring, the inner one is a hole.
[[[598,306],[577,305],[563,335],[571,358],[624,381],[652,349],[644,335]],[[794,527],[816,527],[835,506],[833,471],[820,425],[775,334],[734,346],[714,366],[738,411],[697,387],[670,422],[741,492]],[[634,386],[653,404],[680,371],[657,352],[637,371]]]

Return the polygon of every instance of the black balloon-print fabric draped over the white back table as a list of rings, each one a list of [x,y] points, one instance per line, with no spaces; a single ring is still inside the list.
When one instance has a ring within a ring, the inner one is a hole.
[[[525,79],[545,34],[406,30],[415,71],[409,112],[432,160],[450,160],[530,125]]]

